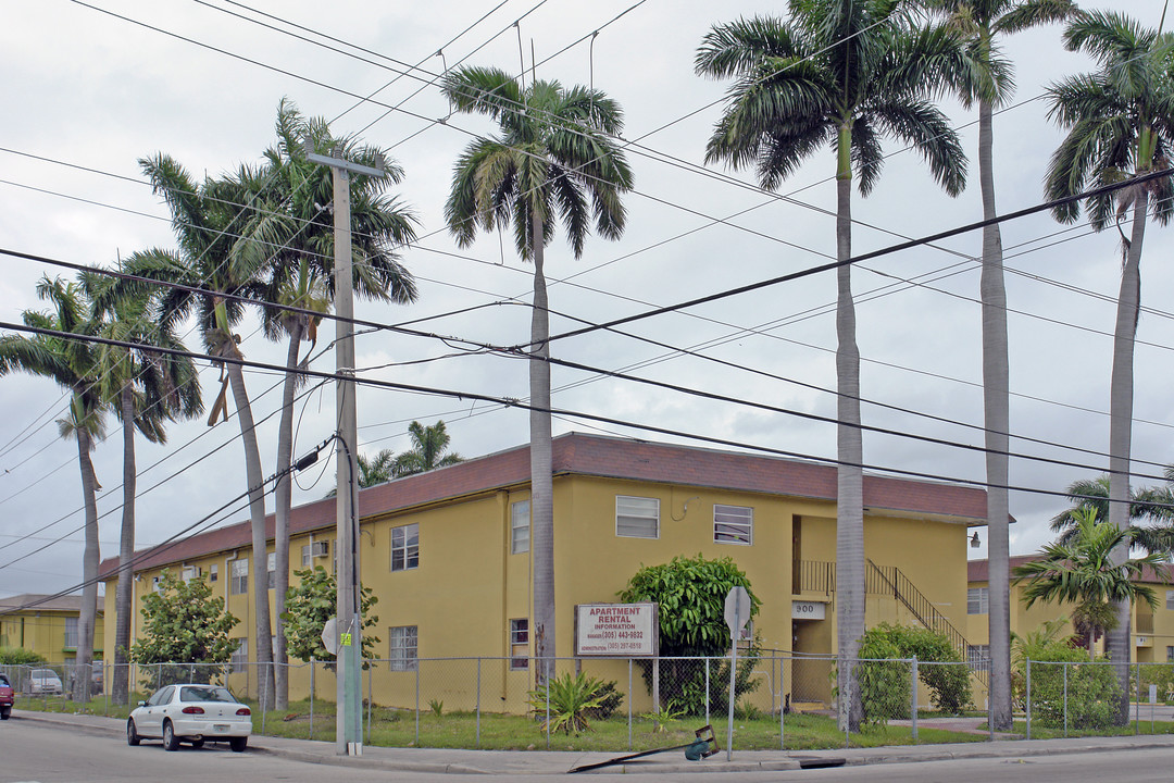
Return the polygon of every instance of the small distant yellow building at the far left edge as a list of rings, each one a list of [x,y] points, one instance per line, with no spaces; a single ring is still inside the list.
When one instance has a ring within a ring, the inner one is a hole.
[[[94,625],[94,659],[102,657],[104,622],[101,599]],[[81,596],[13,595],[0,599],[0,647],[20,647],[53,663],[77,657],[77,619]],[[113,629],[112,629],[113,632]]]

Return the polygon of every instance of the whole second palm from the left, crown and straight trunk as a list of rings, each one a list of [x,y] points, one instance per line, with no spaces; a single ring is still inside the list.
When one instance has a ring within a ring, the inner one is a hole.
[[[113,279],[83,274],[82,285],[95,302]],[[176,418],[190,419],[203,411],[200,379],[195,363],[154,350],[187,350],[169,330],[160,329],[153,305],[157,297],[139,297],[110,303],[108,312],[96,311],[103,337],[134,347],[102,345],[97,349],[99,366],[106,397],[122,423],[122,531],[119,542],[120,575],[115,588],[114,674],[110,694],[114,703],[129,700],[130,617],[134,612],[130,561],[135,552],[135,428],[155,444],[167,443],[164,424]]]

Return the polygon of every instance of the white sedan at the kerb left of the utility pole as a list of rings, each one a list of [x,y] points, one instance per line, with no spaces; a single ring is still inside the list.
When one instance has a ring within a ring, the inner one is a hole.
[[[204,742],[228,742],[244,750],[252,734],[252,711],[223,686],[176,684],[160,688],[130,713],[127,744],[162,740],[164,750],[178,750],[181,742],[193,748]]]

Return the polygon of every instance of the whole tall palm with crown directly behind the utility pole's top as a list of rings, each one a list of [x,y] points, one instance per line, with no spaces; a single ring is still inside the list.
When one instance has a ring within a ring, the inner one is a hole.
[[[310,141],[316,151],[376,167],[383,161],[387,175],[373,178],[355,175],[351,188],[351,249],[353,286],[359,296],[406,304],[417,297],[416,282],[399,263],[396,248],[416,239],[416,217],[394,198],[385,195],[392,184],[403,181],[404,170],[390,164],[384,150],[364,147],[352,137],[335,139],[325,120],[304,117],[289,100],[277,109],[277,144],[265,150],[261,178],[265,183],[263,198],[254,209],[244,236],[255,242],[243,245],[256,254],[255,263],[269,269],[264,308],[265,336],[288,339],[285,382],[282,389],[282,416],[277,430],[277,484],[275,504],[276,601],[275,660],[284,663],[285,634],[281,616],[285,610],[289,588],[289,518],[292,487],[289,466],[294,444],[294,393],[302,376],[296,370],[301,344],[317,338],[317,319],[285,306],[328,312],[335,292],[335,229],[325,215],[324,204],[333,198],[329,167],[311,163],[303,143]],[[276,671],[277,709],[284,709],[289,684],[284,666]]]

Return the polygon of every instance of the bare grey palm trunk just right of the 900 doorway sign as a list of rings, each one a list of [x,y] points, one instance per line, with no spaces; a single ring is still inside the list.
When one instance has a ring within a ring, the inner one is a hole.
[[[851,126],[839,128],[836,173],[836,257],[852,257]],[[836,270],[836,632],[839,728],[858,731],[864,706],[855,660],[864,635],[864,444],[861,432],[861,353],[851,266]]]

